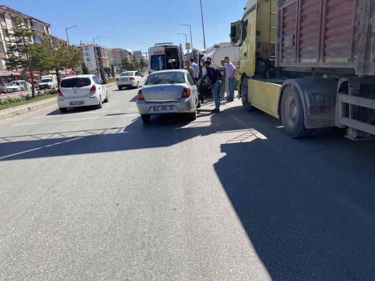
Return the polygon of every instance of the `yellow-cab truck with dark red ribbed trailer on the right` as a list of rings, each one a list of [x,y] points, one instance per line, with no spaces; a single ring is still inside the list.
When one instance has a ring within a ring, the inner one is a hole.
[[[231,24],[243,107],[292,138],[375,135],[375,1],[249,0]]]

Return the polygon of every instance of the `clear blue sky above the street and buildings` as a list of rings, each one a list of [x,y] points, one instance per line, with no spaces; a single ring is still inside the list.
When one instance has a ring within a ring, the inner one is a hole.
[[[206,47],[229,42],[230,23],[242,17],[246,0],[202,0]],[[53,35],[71,44],[95,43],[107,48],[124,48],[146,52],[159,42],[190,42],[203,49],[203,32],[199,0],[3,0],[2,5],[52,25]],[[229,5],[229,6],[228,6]]]

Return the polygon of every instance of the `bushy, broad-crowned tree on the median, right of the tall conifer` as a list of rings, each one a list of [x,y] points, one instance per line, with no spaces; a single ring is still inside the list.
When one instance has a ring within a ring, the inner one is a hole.
[[[60,85],[60,70],[64,68],[75,68],[82,63],[82,52],[74,46],[68,46],[61,43],[54,36],[48,36],[42,39],[42,46],[47,53],[49,60],[49,69],[54,69],[57,76],[57,84]],[[48,70],[48,69],[45,69]]]

